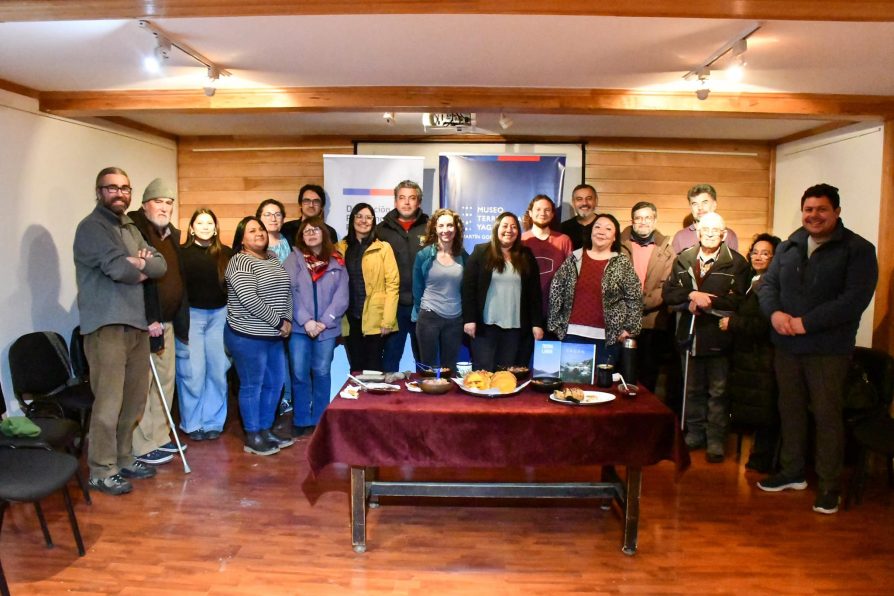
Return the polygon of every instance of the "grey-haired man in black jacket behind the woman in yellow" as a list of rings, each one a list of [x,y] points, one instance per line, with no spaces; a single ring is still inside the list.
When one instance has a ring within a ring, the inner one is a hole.
[[[394,250],[400,271],[400,299],[397,304],[397,331],[385,338],[383,366],[388,372],[400,369],[400,358],[407,344],[407,334],[413,348],[413,358],[419,362],[416,325],[413,312],[413,264],[416,253],[425,242],[428,216],[422,212],[422,188],[412,180],[404,180],[394,187],[394,209],[376,227],[376,236]]]

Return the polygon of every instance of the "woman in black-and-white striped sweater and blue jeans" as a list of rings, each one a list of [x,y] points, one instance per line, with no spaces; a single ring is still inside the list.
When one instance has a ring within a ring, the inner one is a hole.
[[[271,431],[285,378],[283,338],[292,332],[289,276],[267,251],[267,229],[254,216],[242,219],[227,265],[224,343],[239,373],[239,411],[245,451],[273,455],[293,440]]]

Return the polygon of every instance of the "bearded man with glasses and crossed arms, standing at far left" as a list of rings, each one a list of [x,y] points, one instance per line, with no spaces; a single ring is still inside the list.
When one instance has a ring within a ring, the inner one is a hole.
[[[132,188],[121,168],[96,176],[96,207],[74,239],[78,310],[90,385],[90,486],[110,495],[155,470],[134,460],[133,430],[149,394],[149,331],[143,282],[167,271],[164,257],[126,215]]]

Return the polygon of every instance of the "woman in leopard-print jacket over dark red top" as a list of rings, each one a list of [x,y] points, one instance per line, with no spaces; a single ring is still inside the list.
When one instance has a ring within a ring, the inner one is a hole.
[[[602,213],[565,259],[549,292],[549,330],[566,342],[596,344],[597,361],[617,362],[621,342],[642,326],[643,288],[621,253],[621,226]]]

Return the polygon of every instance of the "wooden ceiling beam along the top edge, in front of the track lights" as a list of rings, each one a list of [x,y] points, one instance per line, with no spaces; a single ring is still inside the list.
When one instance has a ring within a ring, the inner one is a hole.
[[[4,0],[0,21],[342,14],[538,14],[892,21],[892,0]]]

